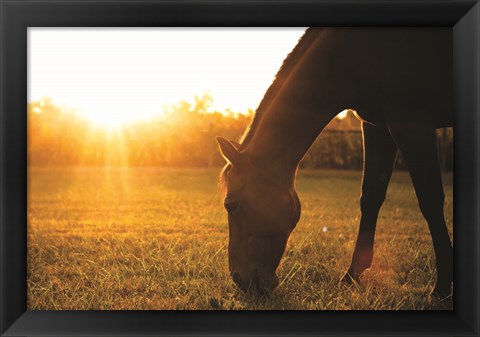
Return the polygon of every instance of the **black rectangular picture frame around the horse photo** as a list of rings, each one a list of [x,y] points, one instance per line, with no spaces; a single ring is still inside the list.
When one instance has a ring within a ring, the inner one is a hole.
[[[0,0],[1,336],[479,335],[478,0]],[[448,26],[454,36],[452,311],[27,311],[27,28]]]

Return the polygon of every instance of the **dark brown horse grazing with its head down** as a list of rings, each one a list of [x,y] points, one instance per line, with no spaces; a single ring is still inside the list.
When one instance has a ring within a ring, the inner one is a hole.
[[[342,281],[359,282],[373,257],[378,212],[397,151],[412,177],[436,256],[433,293],[451,294],[436,129],[453,126],[452,34],[444,28],[310,28],[288,55],[242,140],[218,137],[229,222],[229,268],[243,290],[272,290],[300,218],[298,164],[338,112],[362,120],[360,229]]]

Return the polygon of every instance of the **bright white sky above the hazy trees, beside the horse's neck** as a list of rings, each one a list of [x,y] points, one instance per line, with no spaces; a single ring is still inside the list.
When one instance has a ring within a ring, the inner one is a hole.
[[[305,28],[29,28],[28,100],[106,127],[209,92],[215,108],[255,109]]]

